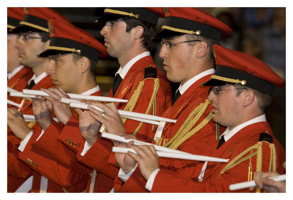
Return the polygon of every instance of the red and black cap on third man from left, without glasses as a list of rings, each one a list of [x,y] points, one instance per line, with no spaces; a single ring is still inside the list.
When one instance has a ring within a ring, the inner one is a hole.
[[[77,53],[98,61],[99,55],[107,57],[106,47],[88,32],[58,20],[49,20],[50,44],[38,57]]]

